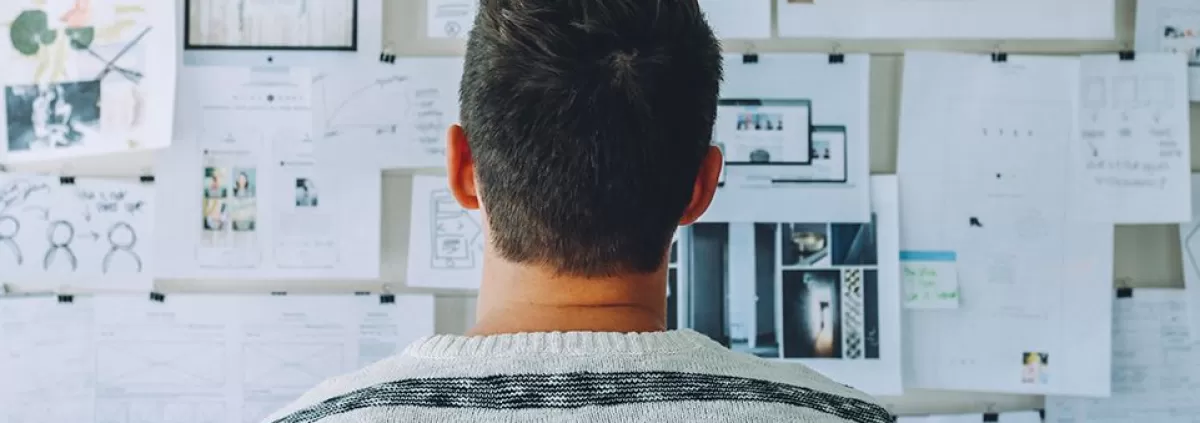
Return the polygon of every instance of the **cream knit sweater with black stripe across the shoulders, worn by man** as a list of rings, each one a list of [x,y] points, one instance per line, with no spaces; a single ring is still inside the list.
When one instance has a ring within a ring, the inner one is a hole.
[[[870,397],[692,330],[438,335],[264,423],[890,423]]]

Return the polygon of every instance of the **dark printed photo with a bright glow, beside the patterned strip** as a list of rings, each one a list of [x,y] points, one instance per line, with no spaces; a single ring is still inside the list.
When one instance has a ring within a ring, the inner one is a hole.
[[[839,270],[784,272],[784,358],[841,358]]]

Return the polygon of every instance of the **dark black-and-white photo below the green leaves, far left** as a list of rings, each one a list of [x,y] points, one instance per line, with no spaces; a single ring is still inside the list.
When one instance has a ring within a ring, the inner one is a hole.
[[[100,133],[100,81],[5,88],[8,151],[82,145]]]

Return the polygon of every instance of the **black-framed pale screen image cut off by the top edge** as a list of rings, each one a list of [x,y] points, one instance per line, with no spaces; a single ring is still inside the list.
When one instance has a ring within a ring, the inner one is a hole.
[[[358,0],[184,0],[184,49],[359,49]]]

